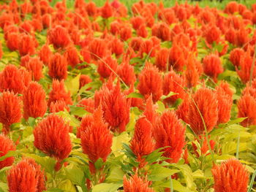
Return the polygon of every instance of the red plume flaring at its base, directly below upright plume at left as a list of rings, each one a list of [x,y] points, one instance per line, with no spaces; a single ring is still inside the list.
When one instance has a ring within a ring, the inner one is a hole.
[[[65,91],[64,80],[53,80],[53,88],[49,93],[48,106],[51,102],[65,101],[66,104],[72,104],[70,93]]]

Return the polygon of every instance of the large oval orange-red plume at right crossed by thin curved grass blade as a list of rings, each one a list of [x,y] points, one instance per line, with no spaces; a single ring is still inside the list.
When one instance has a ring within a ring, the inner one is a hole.
[[[218,102],[216,94],[208,88],[200,88],[192,96],[189,103],[188,119],[194,133],[197,135],[203,134],[205,131],[203,120],[206,123],[206,130],[210,132],[218,120]]]

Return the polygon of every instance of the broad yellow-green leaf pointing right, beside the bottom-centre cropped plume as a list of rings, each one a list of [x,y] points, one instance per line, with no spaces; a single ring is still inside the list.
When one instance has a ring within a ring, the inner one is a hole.
[[[151,173],[148,174],[148,180],[151,180],[151,181],[163,180],[166,177],[170,177],[171,175],[176,174],[177,172],[180,172],[180,170],[168,169],[159,164],[155,164],[154,169],[152,169]]]

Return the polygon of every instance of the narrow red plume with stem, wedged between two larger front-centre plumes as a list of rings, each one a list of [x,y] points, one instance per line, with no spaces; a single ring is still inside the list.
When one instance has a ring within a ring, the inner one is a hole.
[[[135,133],[130,142],[130,148],[136,155],[140,167],[145,165],[144,155],[149,155],[154,150],[152,138],[152,124],[146,118],[139,118],[135,124]]]

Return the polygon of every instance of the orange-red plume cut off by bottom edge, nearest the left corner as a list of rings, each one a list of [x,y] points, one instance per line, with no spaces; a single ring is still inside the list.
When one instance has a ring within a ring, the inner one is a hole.
[[[10,192],[42,192],[45,191],[45,173],[41,166],[32,158],[23,158],[15,166],[12,166],[7,174],[7,182]]]

